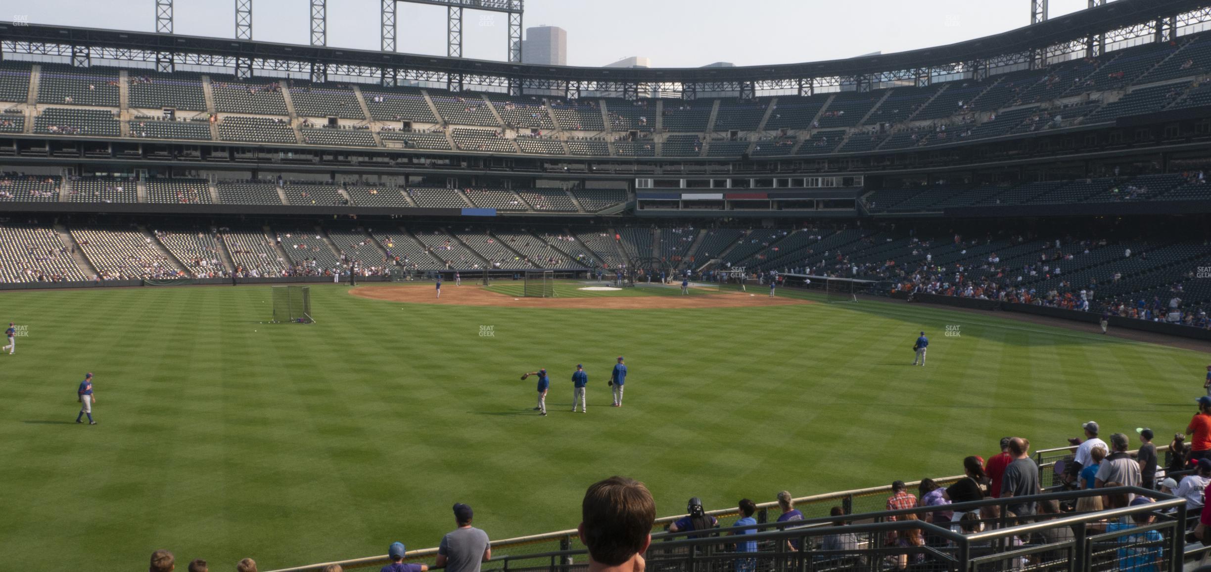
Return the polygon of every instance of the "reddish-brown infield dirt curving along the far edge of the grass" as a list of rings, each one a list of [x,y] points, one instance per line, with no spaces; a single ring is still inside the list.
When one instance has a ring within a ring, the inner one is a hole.
[[[694,296],[619,296],[619,297],[513,297],[481,287],[446,287],[442,297],[434,288],[401,285],[362,285],[350,290],[355,296],[390,302],[440,304],[449,306],[501,306],[516,308],[739,308],[756,306],[794,306],[813,304],[790,297],[745,296],[740,294],[702,294]]]

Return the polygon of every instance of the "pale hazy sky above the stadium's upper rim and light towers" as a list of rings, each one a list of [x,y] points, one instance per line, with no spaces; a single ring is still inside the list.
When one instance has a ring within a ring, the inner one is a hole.
[[[1051,16],[1087,0],[1051,0]],[[176,0],[177,34],[233,37],[234,0]],[[400,2],[397,50],[446,54],[446,8]],[[0,18],[155,30],[155,0],[0,0]],[[569,65],[759,65],[939,46],[1026,25],[1029,0],[526,0],[524,25],[568,30]],[[309,0],[253,0],[253,39],[309,42]],[[507,18],[466,10],[463,54],[505,59]],[[379,48],[379,0],[328,0],[328,46]]]

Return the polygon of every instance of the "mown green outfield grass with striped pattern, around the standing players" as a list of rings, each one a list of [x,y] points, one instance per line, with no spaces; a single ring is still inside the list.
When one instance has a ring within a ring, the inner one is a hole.
[[[157,548],[178,570],[243,556],[270,570],[434,547],[454,502],[493,538],[569,528],[585,487],[612,474],[644,480],[662,515],[690,496],[723,508],[955,474],[1003,435],[1056,446],[1091,418],[1135,444],[1135,427],[1184,429],[1207,363],[878,301],[522,310],[316,285],[314,325],[262,323],[268,287],[0,304],[0,319],[29,327],[0,356],[0,568],[15,571],[142,570]],[[929,366],[911,368],[922,329]],[[620,354],[631,376],[615,409],[606,380]],[[587,415],[569,412],[576,363]],[[518,381],[538,368],[553,374],[547,417],[530,410],[534,381]],[[85,371],[94,427],[73,423]]]

